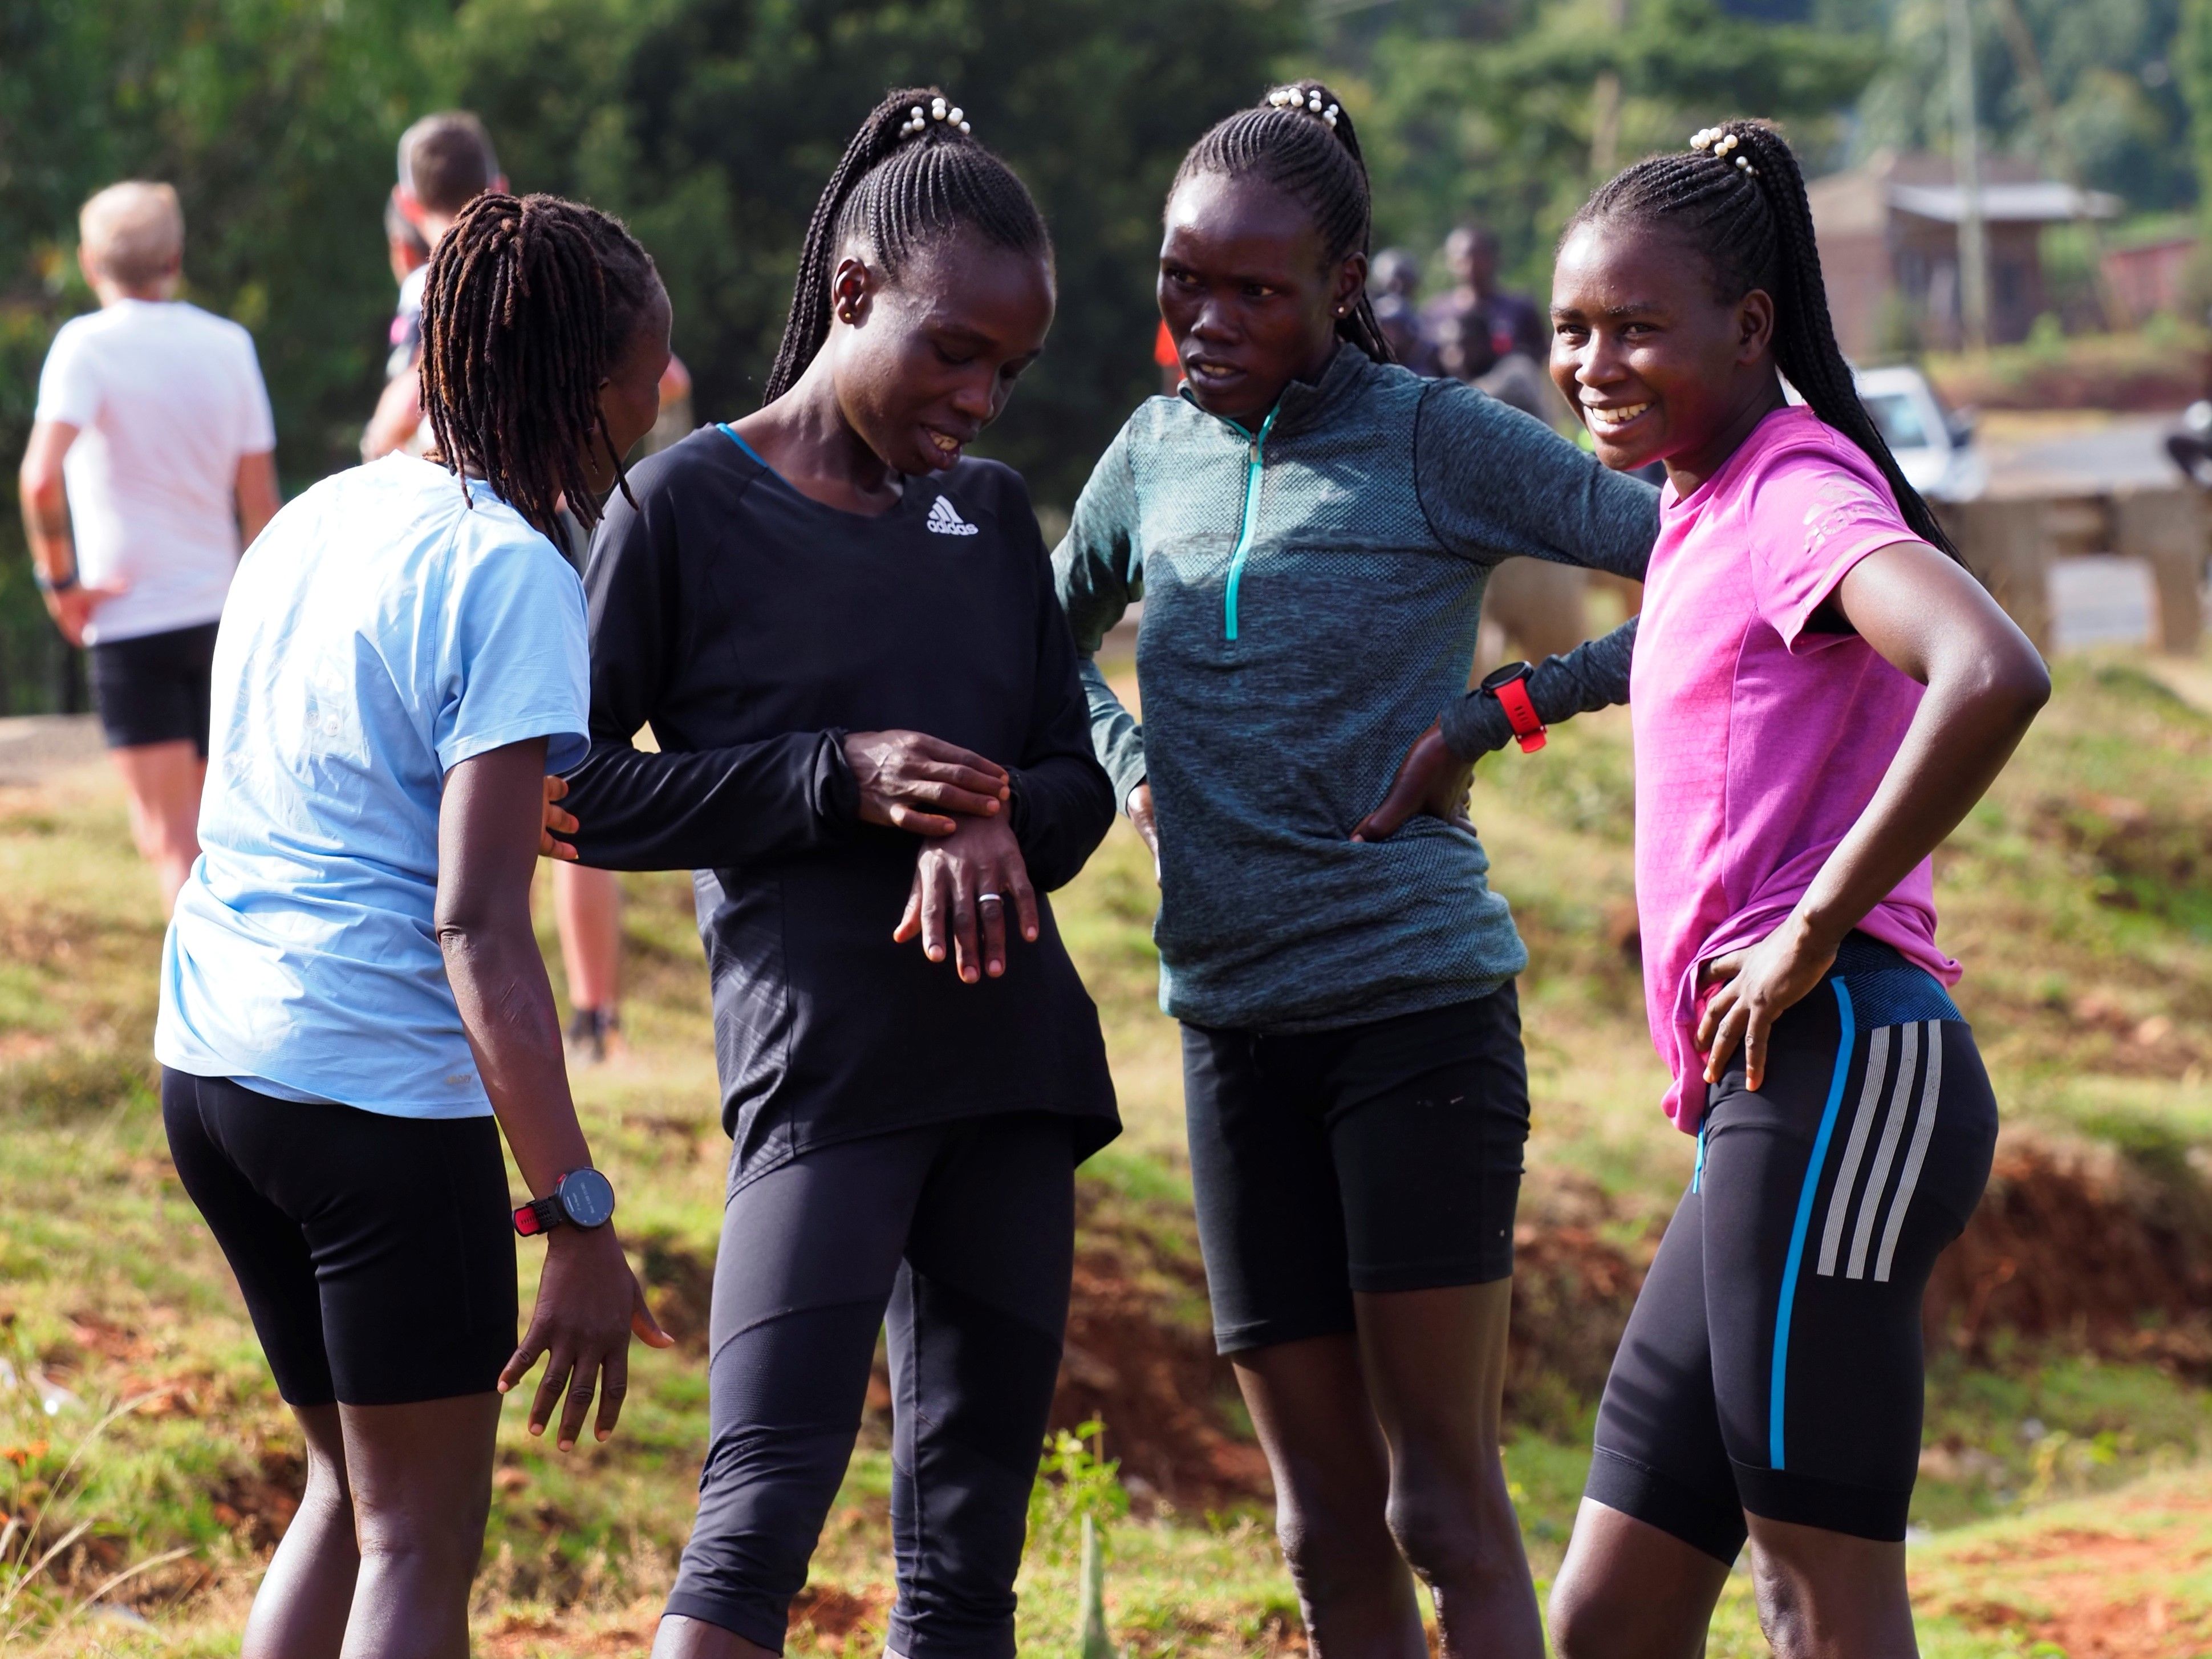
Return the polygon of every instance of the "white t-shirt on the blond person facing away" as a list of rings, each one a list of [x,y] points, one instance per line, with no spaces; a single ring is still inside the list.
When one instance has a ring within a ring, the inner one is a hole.
[[[276,447],[252,336],[181,301],[73,316],[38,376],[38,418],[80,429],[62,460],[80,575],[131,584],[93,613],[86,641],[223,615],[239,458]]]

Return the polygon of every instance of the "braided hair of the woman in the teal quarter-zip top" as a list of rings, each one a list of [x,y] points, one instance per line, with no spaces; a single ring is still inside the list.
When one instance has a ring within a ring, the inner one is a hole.
[[[1329,265],[1367,252],[1374,228],[1367,161],[1358,133],[1352,131],[1352,113],[1318,80],[1285,82],[1254,108],[1208,128],[1175,170],[1168,195],[1186,179],[1208,173],[1261,179],[1314,215]],[[1336,334],[1376,363],[1398,361],[1365,290],[1336,319]]]

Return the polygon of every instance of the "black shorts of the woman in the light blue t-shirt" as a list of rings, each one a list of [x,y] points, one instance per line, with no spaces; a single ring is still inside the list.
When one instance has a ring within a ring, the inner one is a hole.
[[[164,1066],[161,1121],[290,1405],[498,1387],[515,1230],[493,1119],[272,1099]]]

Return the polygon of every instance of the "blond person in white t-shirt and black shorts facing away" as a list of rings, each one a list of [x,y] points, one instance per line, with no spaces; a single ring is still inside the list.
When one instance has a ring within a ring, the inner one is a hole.
[[[199,856],[208,664],[239,549],[276,513],[276,427],[252,336],[175,299],[184,212],[111,184],[77,215],[100,310],[62,323],[22,458],[31,562],[173,905]]]

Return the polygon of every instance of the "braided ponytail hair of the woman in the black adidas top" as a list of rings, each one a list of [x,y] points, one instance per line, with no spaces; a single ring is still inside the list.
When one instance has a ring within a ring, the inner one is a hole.
[[[776,363],[774,403],[830,338],[830,279],[838,250],[865,246],[885,281],[925,248],[967,230],[1018,254],[1053,257],[1044,215],[1004,161],[969,133],[964,113],[936,86],[900,86],[860,122],[807,221]]]

